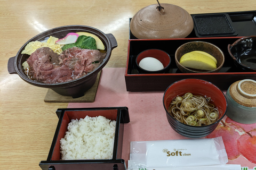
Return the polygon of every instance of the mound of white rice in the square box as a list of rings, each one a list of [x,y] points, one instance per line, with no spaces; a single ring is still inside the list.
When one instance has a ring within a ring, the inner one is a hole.
[[[103,116],[71,120],[60,140],[61,159],[112,159],[115,127],[116,121]]]

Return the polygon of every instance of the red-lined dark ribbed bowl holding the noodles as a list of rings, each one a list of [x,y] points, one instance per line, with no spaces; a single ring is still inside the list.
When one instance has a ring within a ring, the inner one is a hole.
[[[191,92],[193,95],[211,97],[211,103],[219,109],[218,121],[204,126],[191,126],[177,121],[168,112],[168,107],[174,97],[182,96],[186,92]],[[225,116],[227,109],[227,100],[223,92],[211,82],[201,79],[183,79],[172,83],[164,92],[163,104],[167,120],[173,130],[188,138],[202,138],[212,133]]]

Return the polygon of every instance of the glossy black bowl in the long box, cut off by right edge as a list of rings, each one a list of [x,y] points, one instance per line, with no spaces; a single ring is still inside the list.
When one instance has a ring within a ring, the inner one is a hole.
[[[235,66],[242,71],[256,71],[256,36],[243,37],[228,45]]]

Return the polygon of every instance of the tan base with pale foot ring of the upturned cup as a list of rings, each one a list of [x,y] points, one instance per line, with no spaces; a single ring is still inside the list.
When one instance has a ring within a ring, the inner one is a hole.
[[[236,81],[229,88],[230,96],[247,107],[256,107],[256,81],[245,79]]]

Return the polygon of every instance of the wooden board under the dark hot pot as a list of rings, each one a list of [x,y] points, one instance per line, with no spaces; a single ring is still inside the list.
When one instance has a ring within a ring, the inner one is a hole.
[[[49,89],[47,91],[47,94],[44,98],[44,101],[46,103],[91,103],[94,102],[95,96],[97,94],[99,81],[101,77],[102,70],[98,73],[97,80],[95,81],[94,85],[91,89],[87,90],[82,97],[73,98],[71,96],[62,96],[57,94],[57,92],[53,91],[52,89]]]

